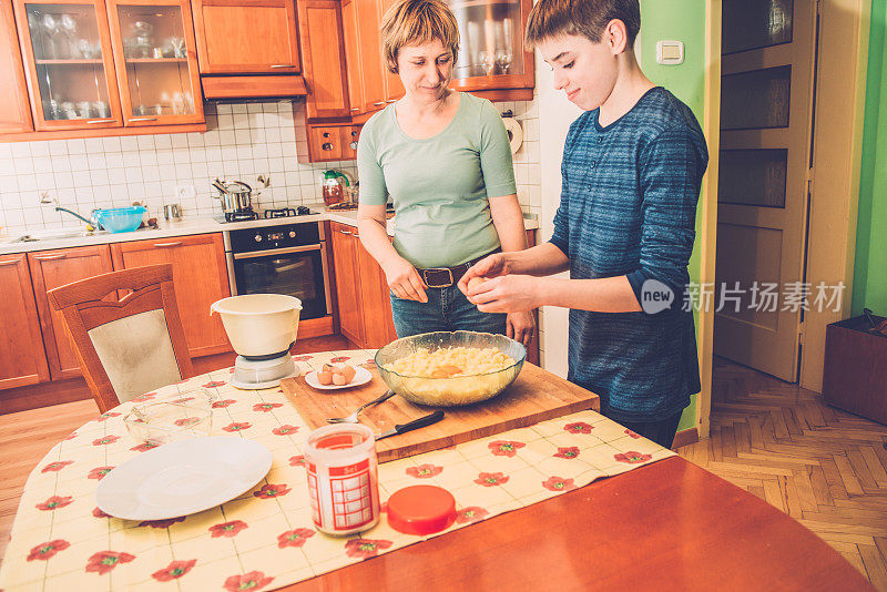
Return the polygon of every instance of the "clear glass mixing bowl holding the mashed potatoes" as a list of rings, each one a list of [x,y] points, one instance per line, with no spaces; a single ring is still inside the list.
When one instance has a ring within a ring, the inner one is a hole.
[[[457,376],[453,378],[426,378],[401,376],[387,370],[386,365],[408,356],[419,348],[434,351],[445,347],[495,348],[509,356],[514,364],[493,372]],[[527,359],[527,348],[504,335],[456,331],[424,333],[391,341],[376,353],[376,367],[388,388],[410,402],[431,407],[452,407],[485,401],[502,392],[514,381]]]

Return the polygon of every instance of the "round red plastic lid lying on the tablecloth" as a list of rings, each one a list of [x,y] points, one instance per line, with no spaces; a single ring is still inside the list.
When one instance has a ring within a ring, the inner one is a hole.
[[[388,498],[388,523],[406,534],[434,534],[456,521],[456,499],[436,486],[411,486]]]

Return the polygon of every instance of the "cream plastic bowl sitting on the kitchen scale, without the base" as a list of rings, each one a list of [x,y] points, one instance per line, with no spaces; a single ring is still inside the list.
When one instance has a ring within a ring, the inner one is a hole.
[[[249,360],[274,359],[296,341],[302,300],[284,294],[244,294],[214,302],[234,351]]]

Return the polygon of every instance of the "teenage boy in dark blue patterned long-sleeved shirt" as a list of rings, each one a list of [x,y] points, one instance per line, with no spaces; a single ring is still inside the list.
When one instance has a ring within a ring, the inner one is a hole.
[[[700,390],[682,304],[708,155],[690,109],[641,71],[640,25],[638,0],[536,3],[527,43],[585,111],[564,143],[554,233],[486,257],[459,287],[482,312],[570,308],[568,378],[600,395],[603,415],[670,448]],[[565,269],[570,279],[549,277]],[[472,277],[483,280],[469,288]],[[654,293],[671,293],[671,306],[650,306],[662,303]]]

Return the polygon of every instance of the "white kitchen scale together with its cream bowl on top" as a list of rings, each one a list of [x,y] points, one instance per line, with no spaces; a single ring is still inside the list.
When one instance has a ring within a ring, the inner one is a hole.
[[[216,300],[218,313],[237,359],[231,384],[243,389],[272,388],[298,368],[289,348],[298,334],[302,300],[283,294],[244,294]]]

